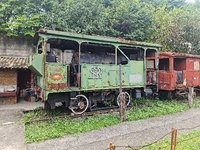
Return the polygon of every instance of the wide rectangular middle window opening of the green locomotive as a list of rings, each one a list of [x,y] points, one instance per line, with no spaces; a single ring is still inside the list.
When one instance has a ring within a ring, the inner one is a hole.
[[[115,47],[98,43],[81,44],[81,63],[115,64]]]

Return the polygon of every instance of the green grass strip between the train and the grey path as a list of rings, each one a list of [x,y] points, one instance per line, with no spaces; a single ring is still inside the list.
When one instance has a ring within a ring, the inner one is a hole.
[[[200,107],[200,101],[195,101],[195,107]],[[188,104],[178,101],[137,100],[134,106],[126,112],[126,121],[146,119],[188,110]],[[25,113],[25,140],[26,143],[44,141],[69,134],[85,133],[119,123],[119,114],[96,115],[78,119],[70,119],[67,114],[64,118],[57,116],[61,112],[45,111],[43,109]],[[52,118],[27,124],[34,119]]]

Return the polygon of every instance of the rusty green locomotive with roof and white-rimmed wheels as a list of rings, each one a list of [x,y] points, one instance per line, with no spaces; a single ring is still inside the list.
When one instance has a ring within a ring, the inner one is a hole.
[[[36,37],[30,69],[46,107],[62,103],[76,114],[117,107],[120,84],[127,105],[157,93],[160,45],[44,29]]]

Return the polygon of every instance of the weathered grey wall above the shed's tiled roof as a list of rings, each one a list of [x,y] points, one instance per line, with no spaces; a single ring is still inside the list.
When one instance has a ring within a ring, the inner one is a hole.
[[[33,51],[33,38],[11,38],[0,34],[0,56],[29,56]]]

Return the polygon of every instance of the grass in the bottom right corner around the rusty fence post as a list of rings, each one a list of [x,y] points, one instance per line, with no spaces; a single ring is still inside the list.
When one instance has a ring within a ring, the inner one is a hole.
[[[169,150],[170,140],[164,140],[153,144],[142,150]],[[199,150],[200,149],[200,130],[192,131],[187,134],[177,135],[176,150]]]

